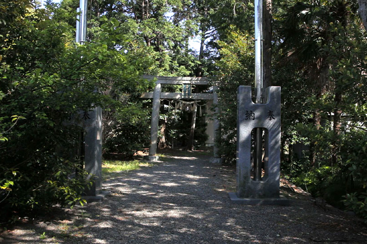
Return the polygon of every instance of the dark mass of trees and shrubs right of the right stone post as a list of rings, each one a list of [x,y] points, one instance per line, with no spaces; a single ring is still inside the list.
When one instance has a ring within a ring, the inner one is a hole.
[[[345,195],[345,205],[365,216],[367,43],[356,9],[353,1],[291,3],[277,19],[283,23],[277,26],[282,39],[277,58],[296,69],[279,65],[275,77],[287,109],[283,145],[310,146],[298,161],[289,149],[282,168],[314,196],[340,206]],[[284,75],[292,85],[281,82]]]

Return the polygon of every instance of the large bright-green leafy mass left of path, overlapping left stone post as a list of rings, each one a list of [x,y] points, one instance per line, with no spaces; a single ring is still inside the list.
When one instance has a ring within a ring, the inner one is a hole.
[[[137,78],[144,62],[116,49],[118,35],[111,28],[116,21],[106,20],[100,28],[108,38],[81,46],[74,43],[72,26],[61,21],[62,10],[13,7],[0,29],[5,37],[0,38],[0,207],[5,219],[54,204],[83,205],[90,180],[75,159],[78,112],[117,106],[119,101],[103,94],[111,87],[136,98],[149,86]]]

